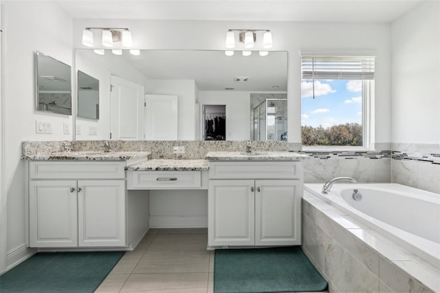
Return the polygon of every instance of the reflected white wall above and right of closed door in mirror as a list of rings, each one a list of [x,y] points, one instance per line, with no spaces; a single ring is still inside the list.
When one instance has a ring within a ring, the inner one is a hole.
[[[196,138],[195,89],[194,80],[149,79],[145,83],[145,94],[178,96],[179,140]]]

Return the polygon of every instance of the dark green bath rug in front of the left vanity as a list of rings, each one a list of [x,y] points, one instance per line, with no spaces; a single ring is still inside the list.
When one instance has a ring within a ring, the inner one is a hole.
[[[37,253],[0,276],[0,292],[94,292],[124,252]]]

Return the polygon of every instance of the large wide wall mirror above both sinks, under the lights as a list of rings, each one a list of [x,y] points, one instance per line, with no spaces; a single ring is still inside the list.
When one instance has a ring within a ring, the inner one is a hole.
[[[151,129],[146,127],[146,121],[151,123],[146,109],[171,115],[157,103],[155,109],[148,108],[144,95],[178,97],[173,106],[178,107],[178,140],[203,140],[206,105],[225,105],[225,140],[287,139],[287,52],[267,56],[200,50],[98,53],[76,50],[76,70],[99,80],[100,101],[99,120],[76,117],[76,140],[144,140],[146,129]]]

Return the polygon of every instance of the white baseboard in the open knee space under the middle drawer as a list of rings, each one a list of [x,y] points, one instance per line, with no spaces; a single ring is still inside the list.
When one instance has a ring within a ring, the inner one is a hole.
[[[206,228],[207,216],[150,216],[150,228]]]

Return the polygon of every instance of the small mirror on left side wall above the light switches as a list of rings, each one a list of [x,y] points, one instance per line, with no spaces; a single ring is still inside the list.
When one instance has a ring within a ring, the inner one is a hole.
[[[36,110],[72,115],[71,67],[36,52]]]

